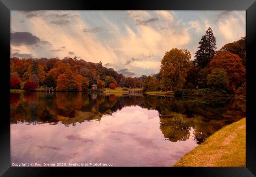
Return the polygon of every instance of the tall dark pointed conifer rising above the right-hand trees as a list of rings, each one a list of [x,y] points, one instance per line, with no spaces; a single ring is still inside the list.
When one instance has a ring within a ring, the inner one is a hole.
[[[216,38],[213,35],[213,30],[209,27],[206,30],[205,35],[199,41],[199,49],[195,53],[196,59],[193,61],[193,65],[199,68],[205,68],[208,66],[210,60],[216,52]]]

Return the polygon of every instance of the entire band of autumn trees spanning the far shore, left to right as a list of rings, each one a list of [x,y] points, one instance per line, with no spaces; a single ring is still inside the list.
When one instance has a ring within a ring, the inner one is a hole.
[[[57,91],[87,91],[93,84],[98,89],[110,87],[143,87],[143,91],[178,89],[211,89],[233,93],[246,88],[246,37],[225,44],[216,51],[216,38],[209,27],[200,39],[195,59],[186,49],[165,52],[158,74],[125,77],[102,63],[70,57],[10,59],[10,87],[35,91],[53,87]]]

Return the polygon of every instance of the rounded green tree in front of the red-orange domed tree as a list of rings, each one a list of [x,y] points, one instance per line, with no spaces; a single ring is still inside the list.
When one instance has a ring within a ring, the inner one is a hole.
[[[228,84],[227,72],[220,68],[215,68],[207,76],[207,85],[210,89],[222,90]]]

